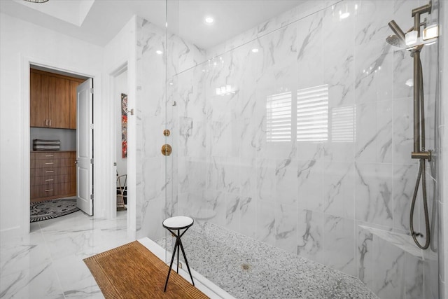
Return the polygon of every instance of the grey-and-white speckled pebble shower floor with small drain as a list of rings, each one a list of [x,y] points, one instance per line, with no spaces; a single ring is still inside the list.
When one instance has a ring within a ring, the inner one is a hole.
[[[354,277],[218,225],[195,221],[182,242],[190,267],[235,298],[377,298]]]

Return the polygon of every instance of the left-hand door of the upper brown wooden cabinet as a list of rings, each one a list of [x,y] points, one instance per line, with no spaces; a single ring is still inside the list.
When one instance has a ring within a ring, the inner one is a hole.
[[[30,72],[29,74],[29,125],[48,125],[48,76]]]

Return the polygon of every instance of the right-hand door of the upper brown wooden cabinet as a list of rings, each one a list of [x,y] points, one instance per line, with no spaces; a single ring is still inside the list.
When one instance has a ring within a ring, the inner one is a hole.
[[[50,76],[48,97],[49,127],[70,127],[70,81]]]

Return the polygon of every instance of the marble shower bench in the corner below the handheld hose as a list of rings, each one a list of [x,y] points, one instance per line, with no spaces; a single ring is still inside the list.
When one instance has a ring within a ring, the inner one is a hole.
[[[438,298],[437,252],[410,235],[358,225],[358,278],[379,298]]]

